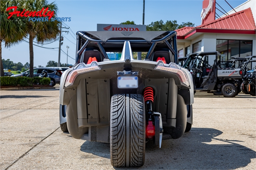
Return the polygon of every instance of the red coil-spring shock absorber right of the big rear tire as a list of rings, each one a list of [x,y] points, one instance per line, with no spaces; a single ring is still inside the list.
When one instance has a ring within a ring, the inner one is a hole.
[[[146,103],[146,138],[152,139],[155,136],[155,126],[153,124],[153,111],[152,111],[152,103],[154,102],[154,91],[152,87],[146,87],[144,89],[144,100]]]

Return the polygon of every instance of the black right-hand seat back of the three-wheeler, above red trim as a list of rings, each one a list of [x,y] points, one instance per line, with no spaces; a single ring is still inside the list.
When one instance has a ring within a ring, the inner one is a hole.
[[[174,62],[174,57],[172,56],[172,53],[169,49],[166,48],[159,48],[154,50],[152,61],[156,61],[158,57],[164,57],[166,64]]]

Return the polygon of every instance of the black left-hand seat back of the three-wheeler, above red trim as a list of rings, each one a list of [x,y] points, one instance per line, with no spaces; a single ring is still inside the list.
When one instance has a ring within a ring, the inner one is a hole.
[[[90,57],[96,57],[97,61],[98,62],[101,62],[103,61],[103,56],[102,54],[100,53],[100,51],[96,50],[96,49],[93,49],[93,48],[87,48],[83,51],[81,57],[80,57],[80,61],[79,63],[85,63],[87,64],[88,62],[88,59]]]

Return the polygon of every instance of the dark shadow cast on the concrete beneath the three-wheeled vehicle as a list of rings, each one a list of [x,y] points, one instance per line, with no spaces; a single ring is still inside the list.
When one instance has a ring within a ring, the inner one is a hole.
[[[256,157],[243,141],[220,139],[221,134],[217,129],[192,128],[180,139],[162,141],[160,149],[146,148],[144,166],[129,169],[226,170],[245,167]],[[86,141],[80,150],[110,159],[110,145],[106,143]]]

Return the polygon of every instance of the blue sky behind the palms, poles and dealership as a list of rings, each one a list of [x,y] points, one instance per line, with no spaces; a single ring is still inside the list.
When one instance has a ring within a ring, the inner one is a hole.
[[[182,22],[192,22],[195,25],[201,24],[200,14],[203,0],[145,0],[145,25],[152,21],[177,20]],[[235,8],[246,0],[227,0]],[[54,2],[49,0],[49,2]],[[70,22],[64,22],[74,33],[76,31],[96,31],[97,23],[119,24],[130,20],[136,24],[142,24],[143,0],[57,0],[58,17],[71,17]],[[226,12],[231,8],[224,0],[216,0]],[[217,6],[218,8],[218,6]],[[220,8],[219,8],[220,9]],[[217,11],[217,10],[216,10]],[[221,16],[221,13],[217,11]],[[61,49],[68,55],[75,58],[76,40],[73,33],[63,33],[64,41]],[[28,39],[27,39],[28,41]],[[70,42],[71,41],[71,42]],[[2,43],[3,44],[3,43]],[[40,44],[34,43],[41,46]],[[43,45],[43,47],[59,47],[58,41]],[[29,45],[26,42],[10,48],[2,46],[2,58],[10,59],[14,63],[29,63]],[[44,49],[34,46],[34,66],[46,66],[47,62],[58,61],[58,49]],[[61,53],[61,63],[66,63],[67,56]],[[69,64],[74,64],[74,60],[68,58]]]

